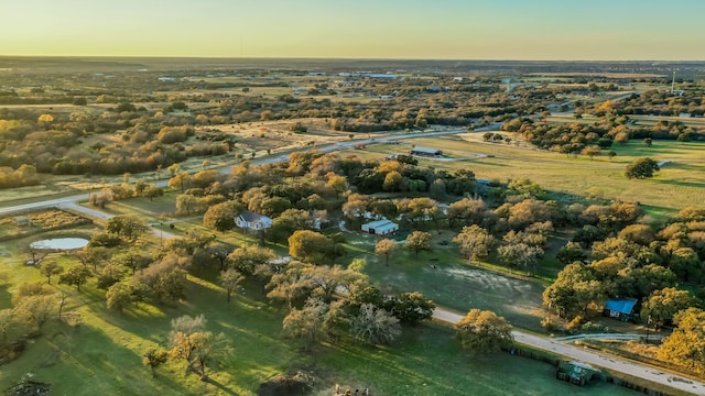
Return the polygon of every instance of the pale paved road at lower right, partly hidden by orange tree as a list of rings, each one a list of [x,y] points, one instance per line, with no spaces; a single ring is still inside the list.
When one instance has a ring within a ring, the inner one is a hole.
[[[444,309],[436,309],[433,312],[433,317],[448,323],[457,323],[463,319],[462,315]],[[703,382],[666,373],[658,369],[644,366],[637,362],[627,361],[617,356],[601,355],[550,338],[539,337],[518,330],[512,331],[512,336],[517,342],[557,353],[571,360],[588,363],[596,367],[604,367],[612,372],[628,374],[695,395],[705,395],[705,383]]]

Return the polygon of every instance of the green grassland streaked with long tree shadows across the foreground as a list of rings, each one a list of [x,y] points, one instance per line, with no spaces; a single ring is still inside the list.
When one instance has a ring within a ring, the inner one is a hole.
[[[0,246],[0,308],[9,307],[14,285],[42,278],[22,265],[19,251],[26,240]],[[55,253],[46,260],[70,265],[75,258]],[[400,265],[395,262],[393,265]],[[371,348],[343,340],[302,352],[282,338],[283,311],[263,299],[259,287],[247,285],[234,302],[215,284],[215,274],[189,276],[188,299],[175,306],[142,304],[123,315],[108,310],[104,292],[93,282],[82,293],[64,285],[65,311],[80,324],[51,321],[44,336],[31,340],[26,352],[0,371],[0,389],[28,375],[53,385],[55,395],[253,395],[259,384],[280,373],[312,373],[316,395],[344,388],[369,387],[373,395],[530,395],[560,393],[629,394],[607,384],[576,388],[554,380],[554,369],[523,358],[499,353],[470,356],[462,352],[453,332],[423,324],[405,332],[390,346]],[[141,364],[148,348],[165,345],[170,322],[181,315],[205,314],[208,330],[225,332],[234,353],[210,382],[184,375],[181,362],[160,367],[156,378]]]

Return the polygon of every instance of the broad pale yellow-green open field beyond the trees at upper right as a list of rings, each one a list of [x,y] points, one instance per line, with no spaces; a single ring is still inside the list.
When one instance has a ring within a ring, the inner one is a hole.
[[[567,157],[566,155],[505,143],[487,143],[481,133],[459,136],[427,138],[405,141],[404,144],[370,145],[365,153],[350,152],[361,157],[383,158],[390,153],[405,152],[411,144],[443,150],[444,153],[466,161],[421,160],[436,168],[468,168],[477,178],[530,178],[549,193],[562,199],[638,201],[646,205],[654,217],[673,213],[687,206],[705,206],[705,158],[703,143],[655,141],[652,147],[641,142],[615,145],[617,156]],[[650,156],[657,161],[671,161],[652,179],[627,179],[625,167],[637,157]]]

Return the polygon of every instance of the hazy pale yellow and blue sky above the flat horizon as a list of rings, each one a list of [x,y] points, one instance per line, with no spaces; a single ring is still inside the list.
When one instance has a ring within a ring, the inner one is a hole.
[[[703,0],[0,0],[0,55],[705,61]]]

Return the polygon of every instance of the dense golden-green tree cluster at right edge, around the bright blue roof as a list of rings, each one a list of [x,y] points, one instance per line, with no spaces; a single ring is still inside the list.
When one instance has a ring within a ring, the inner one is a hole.
[[[578,215],[578,220],[592,224],[575,238],[592,249],[588,255],[579,254],[575,244],[562,250],[563,260],[578,261],[566,265],[546,288],[543,299],[550,309],[566,318],[585,319],[608,298],[636,298],[644,301],[642,319],[662,324],[677,311],[699,305],[695,296],[675,287],[705,282],[702,210],[686,208],[652,229],[638,223],[641,210],[634,209],[612,204],[588,207]],[[588,228],[595,239],[588,237]],[[585,256],[590,261],[583,262]]]

